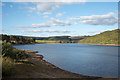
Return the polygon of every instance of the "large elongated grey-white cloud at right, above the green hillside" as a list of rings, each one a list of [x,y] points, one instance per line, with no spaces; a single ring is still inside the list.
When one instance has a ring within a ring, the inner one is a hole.
[[[79,18],[70,18],[70,20],[79,20],[80,23],[90,25],[114,25],[118,22],[113,12],[105,15],[80,16]]]

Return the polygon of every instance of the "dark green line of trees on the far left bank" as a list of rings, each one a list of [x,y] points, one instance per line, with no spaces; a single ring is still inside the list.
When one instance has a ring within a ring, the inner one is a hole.
[[[15,36],[15,35],[4,35],[2,34],[2,41],[9,42],[12,44],[29,44],[35,43],[35,38],[33,37],[24,37],[24,36]]]

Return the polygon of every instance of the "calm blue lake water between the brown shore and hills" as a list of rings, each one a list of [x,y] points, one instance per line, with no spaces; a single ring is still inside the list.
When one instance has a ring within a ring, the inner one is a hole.
[[[87,44],[16,45],[18,49],[36,50],[44,60],[70,72],[89,76],[118,76],[118,47]]]

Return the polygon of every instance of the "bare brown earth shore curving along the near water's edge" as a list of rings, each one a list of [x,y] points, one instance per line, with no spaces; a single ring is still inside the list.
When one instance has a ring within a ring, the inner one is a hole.
[[[30,63],[32,67],[35,67],[34,69],[27,69],[24,72],[27,73],[27,75],[24,75],[23,73],[21,74],[17,74],[11,77],[11,78],[63,78],[63,79],[70,79],[70,80],[116,80],[117,78],[105,78],[105,77],[97,77],[97,76],[87,76],[87,75],[82,75],[82,74],[77,74],[77,73],[73,73],[73,72],[69,72],[67,70],[63,70],[49,62],[47,62],[46,60],[43,60],[44,56],[41,54],[36,54],[38,53],[38,51],[33,51],[33,50],[24,50],[24,49],[19,49],[22,50],[24,52],[26,52],[29,57],[27,58],[27,63]],[[31,67],[29,64],[28,67]],[[21,68],[19,68],[19,66],[24,65],[23,64],[19,64],[16,69],[19,69],[19,71],[21,71],[21,69],[23,68],[23,66]],[[24,66],[26,67],[26,66]],[[15,73],[16,74],[16,73]]]

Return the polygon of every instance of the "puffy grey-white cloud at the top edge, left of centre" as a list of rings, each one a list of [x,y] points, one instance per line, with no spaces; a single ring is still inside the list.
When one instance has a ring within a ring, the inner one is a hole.
[[[60,8],[60,4],[55,2],[33,2],[32,4],[34,7],[27,7],[28,12],[35,11],[38,15],[52,14],[55,9]]]

